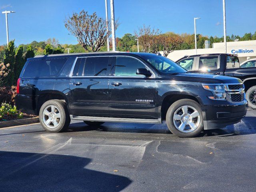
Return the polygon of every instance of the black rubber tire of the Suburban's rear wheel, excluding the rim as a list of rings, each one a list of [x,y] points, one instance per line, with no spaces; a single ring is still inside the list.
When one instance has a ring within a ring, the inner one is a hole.
[[[61,117],[59,120],[58,126],[56,126],[55,128],[49,128],[48,126],[46,126],[46,124],[44,123],[44,120],[43,120],[44,109],[47,106],[51,106],[51,105],[56,106],[58,108],[60,117]],[[46,130],[48,132],[62,132],[64,130],[66,130],[70,124],[70,116],[68,113],[68,109],[66,107],[66,103],[61,100],[46,101],[40,108],[39,120],[40,120],[40,123],[41,123],[42,127],[44,128],[44,130]]]

